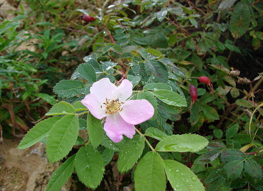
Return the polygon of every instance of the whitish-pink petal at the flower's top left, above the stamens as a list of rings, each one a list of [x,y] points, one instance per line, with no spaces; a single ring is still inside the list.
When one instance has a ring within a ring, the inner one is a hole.
[[[90,92],[96,95],[98,100],[104,103],[107,99],[113,98],[113,91],[117,87],[110,82],[108,78],[102,78],[97,82],[94,82],[91,86]]]

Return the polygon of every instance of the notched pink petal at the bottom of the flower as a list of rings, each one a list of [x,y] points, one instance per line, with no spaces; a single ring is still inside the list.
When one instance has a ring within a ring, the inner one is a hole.
[[[107,114],[104,130],[113,142],[120,142],[123,139],[122,134],[130,139],[135,134],[135,126],[125,122],[118,112]]]

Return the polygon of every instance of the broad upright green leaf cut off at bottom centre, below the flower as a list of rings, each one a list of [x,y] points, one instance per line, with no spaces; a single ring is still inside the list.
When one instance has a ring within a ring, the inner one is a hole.
[[[165,191],[166,181],[162,158],[156,152],[148,152],[136,166],[135,190]]]

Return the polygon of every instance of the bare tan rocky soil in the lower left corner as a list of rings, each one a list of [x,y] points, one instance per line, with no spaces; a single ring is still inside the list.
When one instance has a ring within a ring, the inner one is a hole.
[[[45,145],[16,149],[20,139],[4,139],[0,147],[0,191],[45,191],[52,173],[61,164],[50,164],[45,155]],[[70,178],[62,191],[74,189]]]

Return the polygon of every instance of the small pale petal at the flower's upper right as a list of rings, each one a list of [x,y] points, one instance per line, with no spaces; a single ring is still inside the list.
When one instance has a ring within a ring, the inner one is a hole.
[[[119,99],[120,102],[124,102],[132,95],[132,83],[124,79],[117,89],[113,92],[113,99]]]

